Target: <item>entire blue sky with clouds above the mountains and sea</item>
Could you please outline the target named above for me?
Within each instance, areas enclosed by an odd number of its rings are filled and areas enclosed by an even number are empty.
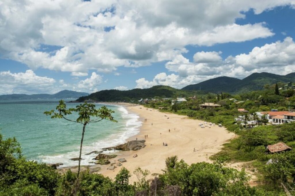
[[[294,0],[2,0],[0,95],[295,72]]]

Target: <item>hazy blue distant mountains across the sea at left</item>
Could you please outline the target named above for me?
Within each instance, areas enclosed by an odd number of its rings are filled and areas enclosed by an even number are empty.
[[[50,94],[12,94],[12,95],[0,95],[0,99],[76,99],[81,96],[87,96],[89,93],[81,93],[72,90],[62,90],[53,95]]]

